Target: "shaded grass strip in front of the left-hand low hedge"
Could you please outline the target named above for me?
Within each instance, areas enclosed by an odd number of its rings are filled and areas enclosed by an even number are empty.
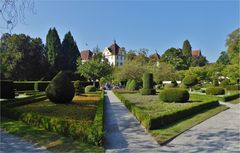
[[[53,152],[104,152],[103,147],[82,143],[69,137],[63,137],[53,132],[26,125],[21,121],[2,118],[0,127],[27,141],[45,146]]]

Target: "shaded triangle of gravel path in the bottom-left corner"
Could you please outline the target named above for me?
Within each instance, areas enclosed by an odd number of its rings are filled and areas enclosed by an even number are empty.
[[[0,129],[0,153],[51,153],[44,147],[27,142]]]

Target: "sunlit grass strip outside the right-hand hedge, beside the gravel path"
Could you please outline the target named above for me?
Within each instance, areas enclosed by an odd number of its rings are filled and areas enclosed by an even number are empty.
[[[177,123],[170,124],[169,126],[157,129],[157,130],[149,130],[152,136],[157,140],[159,144],[164,144],[169,140],[175,138],[182,132],[190,129],[191,127],[205,121],[206,119],[226,110],[226,106],[219,106],[197,115],[191,116],[189,118],[182,119]]]

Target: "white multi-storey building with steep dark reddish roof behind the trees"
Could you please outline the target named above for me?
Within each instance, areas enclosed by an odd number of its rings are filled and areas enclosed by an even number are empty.
[[[106,47],[103,51],[103,56],[108,59],[108,62],[113,66],[119,66],[124,64],[125,50],[120,48],[116,41],[109,47]]]

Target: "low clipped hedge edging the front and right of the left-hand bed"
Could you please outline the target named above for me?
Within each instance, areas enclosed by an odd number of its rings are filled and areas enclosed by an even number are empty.
[[[104,136],[103,110],[104,91],[101,93],[96,115],[91,125],[79,122],[78,120],[67,120],[60,117],[50,117],[33,112],[20,113],[9,107],[4,108],[2,110],[2,114],[12,119],[21,120],[29,125],[44,128],[48,131],[57,132],[64,136],[70,136],[81,142],[87,142],[94,145],[102,145]]]

